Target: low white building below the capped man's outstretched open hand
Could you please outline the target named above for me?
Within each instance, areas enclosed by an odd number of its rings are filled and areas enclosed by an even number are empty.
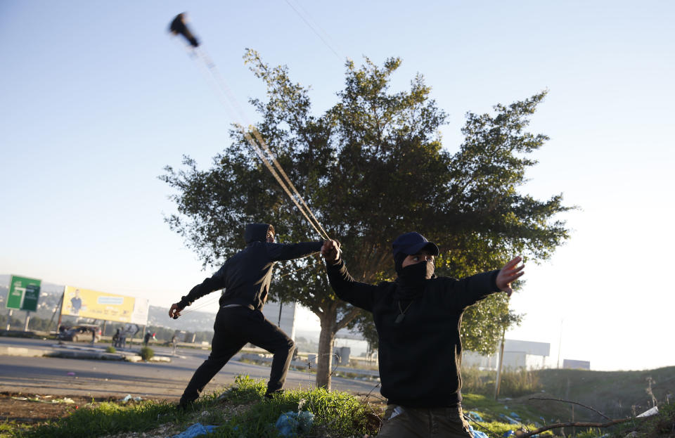
[[[553,365],[551,359],[551,344],[548,342],[530,342],[507,339],[504,341],[503,368],[548,368]],[[495,354],[483,356],[475,352],[464,352],[462,366],[477,366],[484,370],[496,370],[499,365],[499,347]]]

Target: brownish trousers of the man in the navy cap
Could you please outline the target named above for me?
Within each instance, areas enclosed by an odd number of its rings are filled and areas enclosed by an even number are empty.
[[[387,405],[378,438],[473,438],[462,406],[404,408]]]

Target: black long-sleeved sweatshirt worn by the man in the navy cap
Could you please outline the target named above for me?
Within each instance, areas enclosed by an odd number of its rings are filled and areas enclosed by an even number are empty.
[[[424,292],[402,302],[401,314],[394,292],[398,283],[359,283],[344,262],[327,266],[328,279],[341,299],[373,312],[380,339],[382,395],[390,404],[411,408],[451,406],[461,401],[462,342],[459,327],[464,309],[497,292],[499,271],[455,280],[437,277],[426,281]]]

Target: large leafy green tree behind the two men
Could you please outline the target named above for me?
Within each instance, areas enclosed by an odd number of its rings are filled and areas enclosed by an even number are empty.
[[[348,61],[345,88],[321,115],[311,112],[308,89],[291,81],[287,67],[270,67],[255,51],[245,62],[267,86],[264,100],[251,101],[262,116],[255,129],[330,237],[340,240],[359,281],[395,276],[390,245],[407,231],[437,243],[438,273],[455,277],[499,268],[516,254],[546,259],[567,238],[564,222],[553,219],[567,210],[561,195],[541,201],[518,191],[535,164],[529,153],[547,139],[525,130],[544,92],[496,105],[494,117],[469,113],[465,140],[453,153],[442,147],[438,129],[446,114],[423,77],[407,91],[390,91],[398,58],[381,67],[367,58],[359,67]],[[178,213],[167,221],[205,266],[243,247],[249,221],[274,224],[282,242],[319,238],[252,153],[248,134],[232,129],[233,142],[210,169],[184,157],[182,169],[166,167],[160,176],[176,190]],[[330,387],[335,333],[347,326],[372,333],[368,316],[335,297],[318,256],[282,271],[288,275],[276,276],[271,296],[319,316],[316,383]],[[465,344],[491,351],[517,321],[506,297],[493,295],[465,313]]]

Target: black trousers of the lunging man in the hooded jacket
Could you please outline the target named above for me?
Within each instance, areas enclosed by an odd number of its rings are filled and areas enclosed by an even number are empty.
[[[283,387],[295,342],[268,321],[261,311],[243,306],[221,308],[213,330],[211,354],[195,371],[183,392],[181,404],[196,400],[214,375],[248,342],[274,354],[267,392]]]

